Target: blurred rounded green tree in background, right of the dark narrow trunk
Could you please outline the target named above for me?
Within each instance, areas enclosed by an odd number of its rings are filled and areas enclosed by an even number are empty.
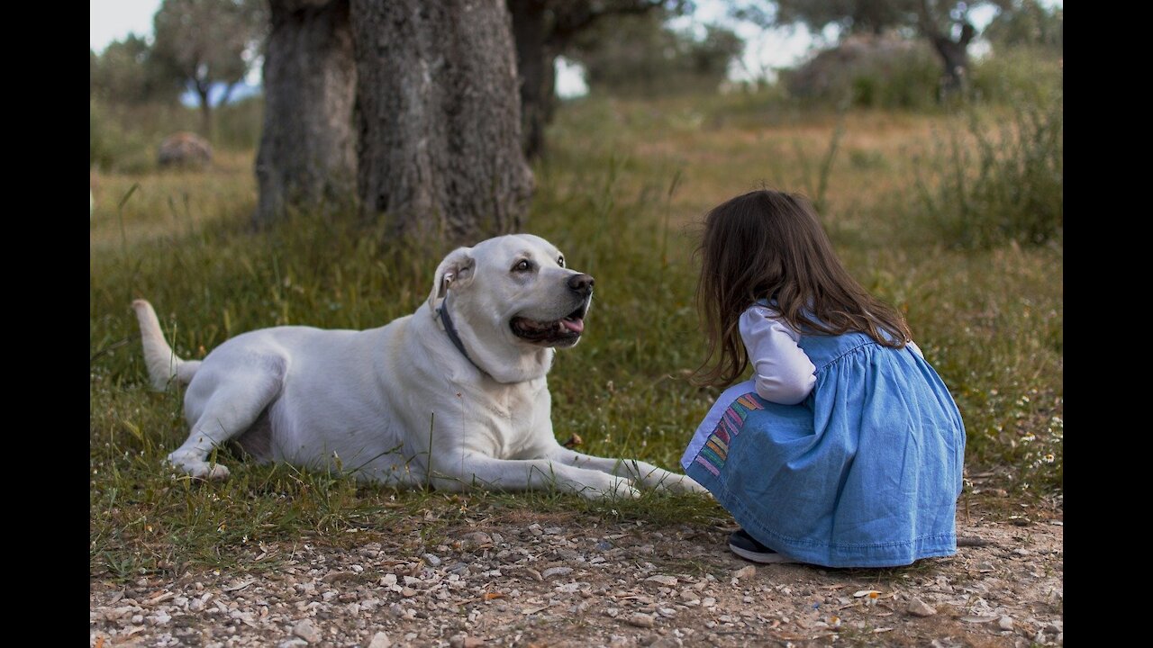
[[[704,27],[701,38],[673,31],[668,18],[664,10],[626,16],[578,37],[570,55],[585,66],[589,91],[645,96],[716,91],[744,43],[715,25]]]

